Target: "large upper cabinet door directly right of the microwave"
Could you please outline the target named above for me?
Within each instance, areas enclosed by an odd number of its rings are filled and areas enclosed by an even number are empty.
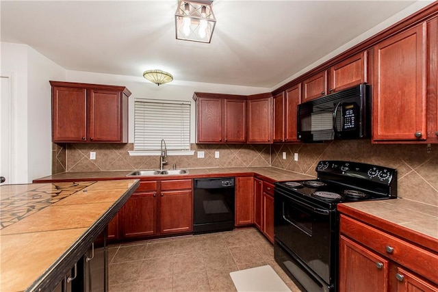
[[[426,139],[426,23],[374,47],[372,139]]]

